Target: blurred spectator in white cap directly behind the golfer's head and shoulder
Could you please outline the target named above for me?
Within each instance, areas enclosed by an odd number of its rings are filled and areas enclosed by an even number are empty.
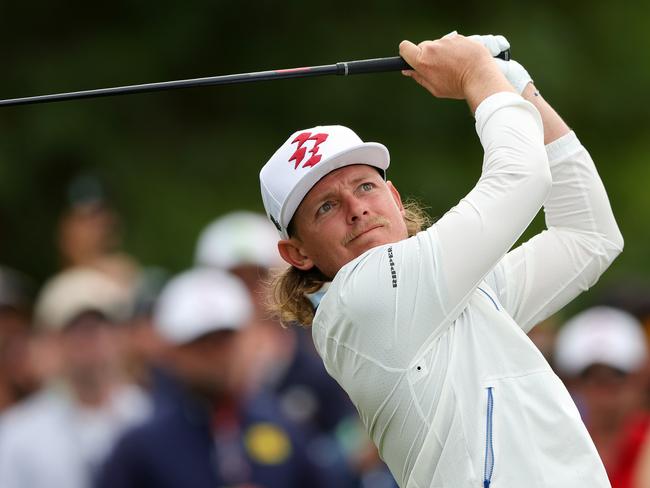
[[[354,406],[325,371],[311,333],[282,328],[266,308],[270,272],[286,266],[278,238],[264,215],[235,211],[210,223],[197,243],[196,265],[237,275],[253,299],[254,315],[240,333],[236,358],[247,392],[268,389],[277,395],[283,414],[310,433],[310,456],[338,472],[337,486],[396,486]]]

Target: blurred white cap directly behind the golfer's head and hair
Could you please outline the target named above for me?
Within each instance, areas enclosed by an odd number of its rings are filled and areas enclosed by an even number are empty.
[[[231,212],[209,224],[199,236],[195,264],[219,269],[242,265],[261,268],[282,266],[278,233],[263,215]]]

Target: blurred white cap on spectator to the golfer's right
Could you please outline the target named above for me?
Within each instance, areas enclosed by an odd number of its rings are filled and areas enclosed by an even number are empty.
[[[593,364],[630,373],[639,369],[646,357],[646,337],[640,322],[612,307],[579,313],[562,327],[555,345],[555,364],[569,376]]]

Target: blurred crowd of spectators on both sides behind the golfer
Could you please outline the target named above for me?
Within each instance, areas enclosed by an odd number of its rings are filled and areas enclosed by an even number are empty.
[[[0,267],[0,487],[396,486],[309,330],[265,310],[283,263],[263,215],[215,216],[172,276],[121,250],[118,215],[87,190],[61,216],[57,274]],[[531,339],[612,486],[647,488],[650,297],[626,297]]]

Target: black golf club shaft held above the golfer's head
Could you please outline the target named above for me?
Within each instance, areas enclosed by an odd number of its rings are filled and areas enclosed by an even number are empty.
[[[499,53],[496,57],[510,59],[510,50]],[[62,102],[81,98],[98,98],[115,95],[128,95],[131,93],[145,93],[176,88],[191,88],[196,86],[232,85],[236,83],[251,83],[253,81],[281,80],[287,78],[305,78],[308,76],[325,75],[357,75],[365,73],[381,73],[387,71],[401,71],[411,69],[400,56],[377,59],[363,59],[359,61],[344,61],[336,64],[310,66],[305,68],[281,69],[272,71],[257,71],[253,73],[240,73],[235,75],[209,76],[206,78],[193,78],[188,80],[162,81],[159,83],[145,83],[142,85],[118,86],[113,88],[99,88],[68,93],[55,93],[52,95],[39,95],[25,98],[11,98],[0,100],[0,106],[29,105],[34,103]]]

